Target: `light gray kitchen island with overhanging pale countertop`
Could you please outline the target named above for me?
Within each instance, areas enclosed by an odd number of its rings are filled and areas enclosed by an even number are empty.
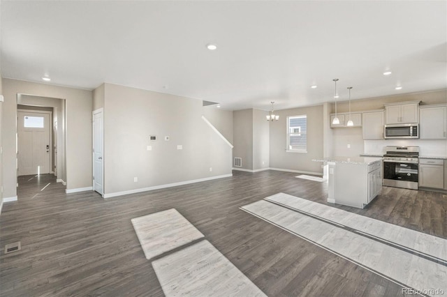
[[[382,188],[382,158],[333,157],[328,165],[328,202],[364,208]]]

